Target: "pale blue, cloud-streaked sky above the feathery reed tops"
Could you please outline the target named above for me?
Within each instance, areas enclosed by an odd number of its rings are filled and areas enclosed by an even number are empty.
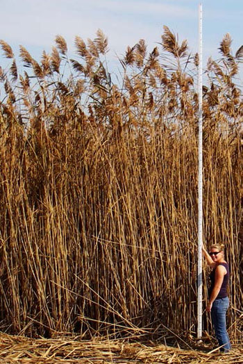
[[[0,0],[0,39],[18,53],[22,44],[40,60],[51,52],[55,36],[65,37],[74,51],[74,37],[93,39],[98,28],[108,36],[110,62],[143,38],[149,50],[160,42],[162,26],[187,39],[193,53],[198,47],[198,7],[203,4],[203,59],[218,57],[222,37],[230,33],[233,51],[243,44],[242,0]],[[3,53],[0,53],[3,65]]]

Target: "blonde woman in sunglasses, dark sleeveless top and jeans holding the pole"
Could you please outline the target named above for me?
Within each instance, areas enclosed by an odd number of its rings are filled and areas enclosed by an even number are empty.
[[[226,330],[226,312],[229,304],[227,294],[229,268],[228,263],[224,260],[224,245],[212,245],[209,253],[203,247],[203,255],[206,257],[210,268],[212,268],[206,311],[211,312],[212,324],[219,342],[220,351],[228,352],[231,349],[231,343]]]

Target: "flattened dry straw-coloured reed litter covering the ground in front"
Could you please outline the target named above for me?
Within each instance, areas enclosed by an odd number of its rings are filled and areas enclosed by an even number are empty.
[[[199,349],[179,349],[154,343],[127,343],[124,340],[80,340],[80,338],[31,339],[0,334],[0,363],[217,363],[243,364],[243,349],[233,348],[230,354]]]

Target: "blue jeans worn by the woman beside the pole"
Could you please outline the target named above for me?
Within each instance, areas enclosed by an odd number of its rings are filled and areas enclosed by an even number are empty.
[[[212,304],[211,318],[215,335],[219,342],[220,351],[228,352],[231,349],[230,339],[226,330],[226,312],[228,310],[228,297],[219,298]],[[224,346],[222,346],[224,345]]]

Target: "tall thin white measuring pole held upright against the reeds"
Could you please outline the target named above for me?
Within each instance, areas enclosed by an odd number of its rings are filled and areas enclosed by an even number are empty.
[[[197,338],[202,336],[202,300],[203,300],[203,10],[199,4],[199,223],[198,223],[198,272],[197,272]]]

